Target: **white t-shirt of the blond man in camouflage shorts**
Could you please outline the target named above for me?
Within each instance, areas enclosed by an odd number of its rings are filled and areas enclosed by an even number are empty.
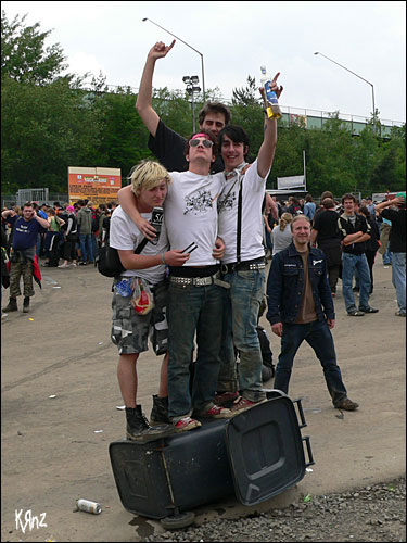
[[[141,213],[141,216],[147,220],[151,219],[151,213]],[[117,206],[111,218],[110,245],[114,249],[135,251],[143,239],[144,236],[140,232],[131,218],[120,205]],[[158,243],[153,245],[148,242],[140,254],[144,256],[154,256],[168,251],[168,249],[167,232],[165,224],[163,224]],[[126,269],[126,272],[123,272],[122,277],[141,277],[150,285],[156,285],[164,279],[164,274],[165,266],[164,264],[160,264],[145,269]]]

